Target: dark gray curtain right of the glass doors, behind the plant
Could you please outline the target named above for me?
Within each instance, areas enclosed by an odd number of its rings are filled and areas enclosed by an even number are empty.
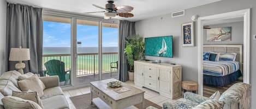
[[[126,37],[135,35],[135,22],[129,21],[120,21],[119,24],[119,80],[127,81],[128,80],[128,64],[126,59],[126,54],[124,53],[124,48],[126,46]]]

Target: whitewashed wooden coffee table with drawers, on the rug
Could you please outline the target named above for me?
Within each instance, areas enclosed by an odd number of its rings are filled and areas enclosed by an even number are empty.
[[[112,108],[120,109],[129,106],[141,104],[141,108],[144,109],[144,93],[141,89],[135,88],[122,82],[122,87],[130,89],[127,92],[117,93],[114,89],[108,87],[106,84],[110,81],[117,81],[116,79],[107,79],[101,81],[90,82],[91,86],[91,102],[98,108]],[[97,95],[98,98],[93,98],[93,95]]]

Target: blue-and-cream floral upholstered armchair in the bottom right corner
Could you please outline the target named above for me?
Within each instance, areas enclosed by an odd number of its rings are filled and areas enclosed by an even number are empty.
[[[251,85],[236,83],[225,91],[218,100],[213,100],[191,92],[184,93],[184,98],[165,102],[163,109],[249,109],[251,108]]]

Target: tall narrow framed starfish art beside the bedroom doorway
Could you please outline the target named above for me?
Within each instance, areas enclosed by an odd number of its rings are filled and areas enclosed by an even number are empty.
[[[194,46],[194,24],[182,24],[182,46]]]

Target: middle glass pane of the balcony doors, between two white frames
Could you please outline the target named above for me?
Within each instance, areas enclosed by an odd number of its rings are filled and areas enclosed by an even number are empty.
[[[99,80],[99,22],[76,20],[76,80],[84,84]]]

